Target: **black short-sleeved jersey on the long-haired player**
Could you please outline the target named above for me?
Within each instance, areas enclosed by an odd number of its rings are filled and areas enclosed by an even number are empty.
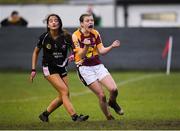
[[[54,40],[48,32],[43,33],[37,43],[39,49],[43,48],[42,65],[66,66],[68,63],[68,50],[71,46],[72,40],[70,34],[63,32]]]

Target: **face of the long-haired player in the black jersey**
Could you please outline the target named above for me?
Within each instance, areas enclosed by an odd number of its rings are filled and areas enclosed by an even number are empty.
[[[59,28],[59,20],[56,16],[50,16],[48,20],[48,27],[51,30],[57,30]]]

